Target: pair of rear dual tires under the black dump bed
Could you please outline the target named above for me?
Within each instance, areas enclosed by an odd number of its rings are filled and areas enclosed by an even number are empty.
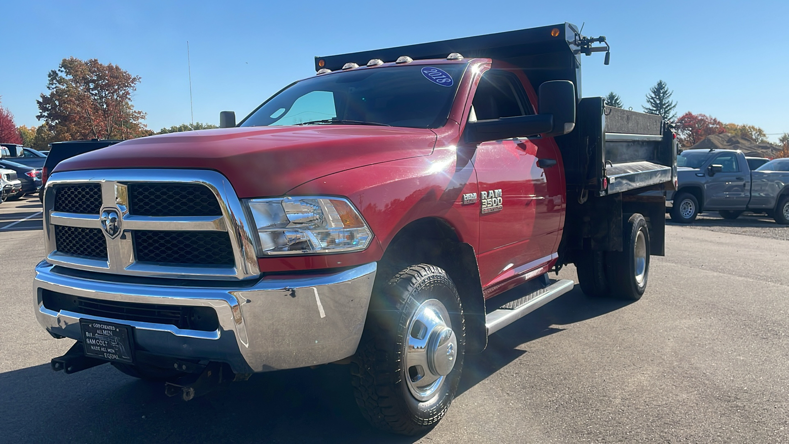
[[[585,250],[576,262],[581,291],[586,295],[638,300],[649,280],[649,229],[641,214],[623,224],[622,251]]]

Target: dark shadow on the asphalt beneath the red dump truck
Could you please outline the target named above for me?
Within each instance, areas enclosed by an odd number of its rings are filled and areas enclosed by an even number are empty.
[[[524,344],[623,307],[579,288],[490,338],[468,356],[458,397],[525,353]],[[538,365],[535,363],[535,365]],[[255,374],[193,401],[103,365],[77,374],[48,365],[0,374],[7,442],[416,442],[383,435],[358,412],[347,366]]]

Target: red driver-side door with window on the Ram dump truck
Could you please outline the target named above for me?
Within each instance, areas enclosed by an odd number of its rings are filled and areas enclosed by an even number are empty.
[[[483,74],[472,111],[469,118],[477,120],[534,113],[518,76],[506,70]],[[544,265],[555,252],[564,205],[559,152],[553,141],[535,141],[522,137],[477,146],[483,286]]]

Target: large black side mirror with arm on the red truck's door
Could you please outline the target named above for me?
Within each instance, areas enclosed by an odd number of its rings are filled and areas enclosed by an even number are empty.
[[[547,81],[540,85],[540,114],[503,117],[467,122],[467,142],[500,141],[512,137],[540,134],[561,136],[575,128],[575,85],[566,80]]]

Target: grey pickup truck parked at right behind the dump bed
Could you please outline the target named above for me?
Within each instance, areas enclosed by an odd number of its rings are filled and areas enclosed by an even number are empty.
[[[778,224],[789,224],[789,171],[776,171],[784,165],[772,160],[750,171],[741,151],[686,149],[677,156],[679,186],[667,193],[667,211],[682,224],[710,210],[726,219],[745,211],[767,213]]]

